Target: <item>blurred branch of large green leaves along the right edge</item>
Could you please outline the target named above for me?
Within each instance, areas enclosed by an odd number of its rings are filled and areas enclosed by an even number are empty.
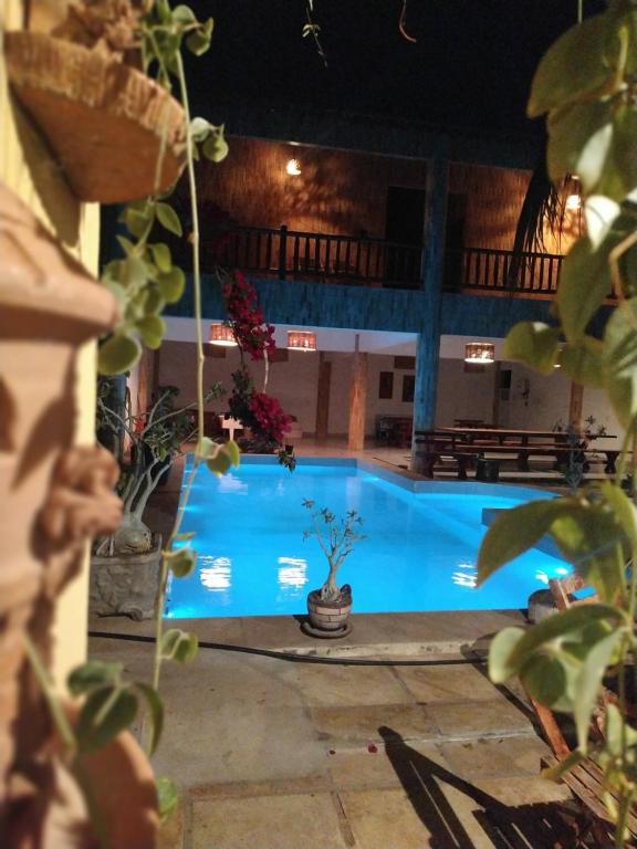
[[[519,675],[537,702],[573,715],[577,748],[550,776],[586,756],[596,761],[622,847],[637,797],[637,731],[626,719],[627,664],[637,649],[637,514],[622,489],[637,431],[636,0],[610,0],[603,14],[552,45],[535,73],[528,111],[530,117],[547,115],[552,180],[577,175],[581,181],[587,233],[564,260],[555,323],[515,325],[504,355],[544,375],[560,363],[575,382],[603,389],[626,436],[613,481],[507,511],[487,534],[480,583],[547,534],[599,598],[529,630],[500,632],[490,674],[494,682]],[[588,326],[612,293],[616,306],[598,339]],[[606,677],[616,678],[617,704],[601,699]],[[591,742],[599,702],[605,734]]]

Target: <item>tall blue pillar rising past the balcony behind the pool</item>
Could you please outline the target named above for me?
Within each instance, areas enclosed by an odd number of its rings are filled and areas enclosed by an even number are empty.
[[[414,431],[428,430],[436,424],[448,187],[449,164],[443,157],[435,156],[429,160],[427,168],[427,197],[422,233],[425,245],[422,258],[424,326],[416,343]],[[411,441],[411,470],[421,471],[421,463],[416,454],[415,438]]]

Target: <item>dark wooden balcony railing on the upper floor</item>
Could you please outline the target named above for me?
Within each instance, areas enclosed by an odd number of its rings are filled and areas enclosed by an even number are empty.
[[[320,280],[355,285],[420,289],[422,245],[331,233],[264,227],[236,227],[201,242],[202,266],[241,269],[279,280]],[[552,296],[557,291],[558,254],[513,253],[464,248],[445,254],[447,291],[521,292]]]

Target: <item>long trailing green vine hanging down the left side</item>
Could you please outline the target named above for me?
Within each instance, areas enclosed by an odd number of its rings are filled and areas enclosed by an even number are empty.
[[[174,9],[167,0],[155,0],[140,19],[138,44],[142,50],[145,71],[155,74],[157,82],[171,90],[177,84],[178,95],[186,113],[186,159],[190,190],[192,218],[192,249],[195,321],[197,327],[197,418],[192,429],[197,434],[197,447],[190,473],[186,481],[177,518],[165,551],[161,553],[159,590],[155,614],[155,646],[152,684],[126,682],[121,663],[88,661],[73,670],[67,680],[69,692],[81,698],[82,705],[75,723],[70,723],[61,705],[55,688],[32,642],[27,640],[27,651],[32,668],[50,706],[51,717],[63,744],[63,756],[83,786],[82,758],[107,745],[117,734],[130,727],[140,712],[144,713],[144,743],[149,755],[155,751],[164,725],[164,705],[158,693],[160,671],[164,661],[180,663],[194,660],[198,651],[197,637],[179,628],[164,630],[163,611],[169,575],[184,578],[196,565],[196,552],[191,548],[192,534],[182,534],[184,507],[190,495],[197,470],[206,463],[215,474],[224,474],[238,465],[240,451],[233,441],[218,444],[203,436],[203,348],[201,338],[201,280],[199,272],[199,224],[195,160],[198,150],[212,161],[221,161],[228,153],[223,139],[223,127],[216,127],[203,118],[191,118],[181,49],[185,45],[196,55],[205,53],[210,44],[212,21],[199,23],[195,13],[186,6]],[[157,185],[161,172],[166,130],[157,161]],[[181,235],[181,223],[166,197],[157,192],[154,197],[129,203],[122,216],[130,238],[119,238],[124,258],[109,263],[103,275],[104,284],[119,301],[123,319],[112,336],[103,340],[98,353],[98,369],[103,375],[123,374],[138,360],[142,344],[150,348],[160,345],[165,333],[160,312],[166,303],[173,303],[182,294],[185,275],[173,264],[168,247],[150,242],[150,235],[158,223],[164,229]],[[164,398],[164,401],[167,399]],[[161,411],[161,400],[150,411],[152,422],[146,422],[145,437],[149,438],[157,458],[171,450],[171,428],[168,420],[174,412]],[[114,421],[114,410],[104,409],[102,415]],[[180,413],[177,411],[175,415]],[[115,413],[119,415],[119,413]],[[118,424],[123,424],[119,421]],[[161,427],[164,426],[164,427]],[[150,432],[153,430],[153,433]],[[133,433],[129,436],[133,437]],[[173,433],[173,436],[175,436]],[[185,434],[187,436],[187,434]],[[134,437],[133,437],[134,438]],[[127,484],[125,484],[127,485]],[[135,489],[135,483],[132,484]],[[91,793],[86,799],[91,807]],[[176,785],[168,778],[157,782],[157,796],[161,818],[175,810],[178,803]],[[101,845],[100,816],[94,813],[92,822]]]

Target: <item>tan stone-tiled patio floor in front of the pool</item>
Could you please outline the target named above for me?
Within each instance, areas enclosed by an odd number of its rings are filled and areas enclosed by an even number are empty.
[[[94,638],[91,653],[148,678],[148,644]],[[202,649],[165,667],[161,691],[155,768],[184,792],[161,849],[542,849],[546,835],[521,835],[568,797],[539,777],[545,745],[480,662],[318,665]]]

